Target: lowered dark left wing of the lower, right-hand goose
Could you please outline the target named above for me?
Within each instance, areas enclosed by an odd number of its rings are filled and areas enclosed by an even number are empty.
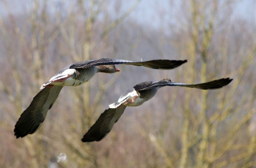
[[[126,106],[121,105],[115,109],[106,109],[104,113],[100,115],[98,120],[92,125],[92,127],[86,132],[81,141],[93,142],[101,141],[113,128],[113,125],[118,121],[120,116],[124,113]]]

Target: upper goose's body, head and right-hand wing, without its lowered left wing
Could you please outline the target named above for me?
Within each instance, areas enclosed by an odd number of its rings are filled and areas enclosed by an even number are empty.
[[[115,64],[127,64],[132,66],[145,66],[152,69],[173,69],[187,62],[187,60],[148,60],[144,62],[134,62],[131,60],[102,58],[97,60],[86,60],[76,62],[61,69],[52,78],[41,86],[78,86],[90,80],[96,73],[116,73]]]

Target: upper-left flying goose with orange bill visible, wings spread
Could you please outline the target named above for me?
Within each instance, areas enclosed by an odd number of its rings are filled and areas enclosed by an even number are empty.
[[[115,64],[144,66],[152,69],[173,69],[187,60],[148,60],[134,62],[131,60],[102,58],[76,62],[61,69],[41,86],[41,91],[33,98],[29,107],[20,115],[15,124],[16,138],[33,134],[42,125],[47,111],[52,108],[63,86],[78,86],[90,80],[96,73],[116,73],[120,69]]]

